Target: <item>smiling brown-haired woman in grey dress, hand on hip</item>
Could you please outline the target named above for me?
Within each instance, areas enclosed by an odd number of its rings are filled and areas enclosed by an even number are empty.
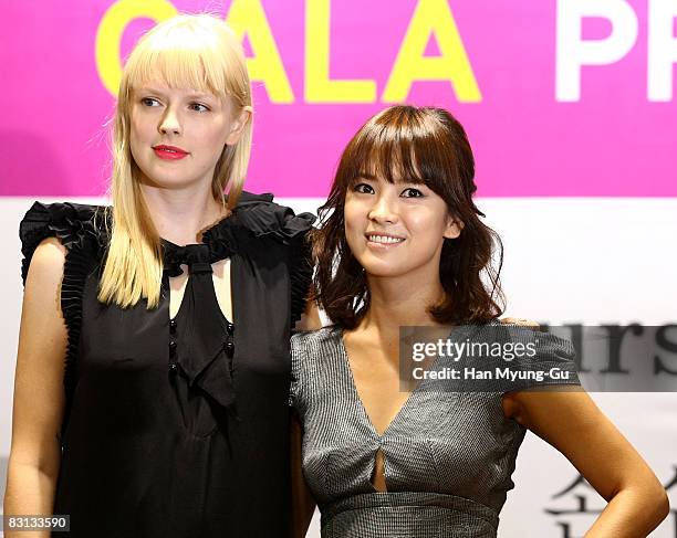
[[[342,156],[314,232],[316,298],[334,325],[292,337],[291,403],[322,536],[494,537],[529,429],[608,502],[586,537],[644,537],[666,493],[587,394],[566,390],[579,384],[571,344],[521,329],[537,342],[522,366],[562,379],[399,389],[402,327],[521,338],[497,320],[497,236],[478,217],[473,176],[461,125],[439,108],[388,108]],[[558,390],[527,390],[544,386]]]

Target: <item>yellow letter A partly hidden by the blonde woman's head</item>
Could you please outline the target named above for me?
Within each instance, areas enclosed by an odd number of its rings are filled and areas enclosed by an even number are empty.
[[[233,0],[226,19],[230,28],[242,40],[249,35],[254,53],[247,59],[247,68],[252,81],[262,81],[272,103],[293,103],[294,94],[287,78],[278,45],[273,39],[265,12],[259,0]]]

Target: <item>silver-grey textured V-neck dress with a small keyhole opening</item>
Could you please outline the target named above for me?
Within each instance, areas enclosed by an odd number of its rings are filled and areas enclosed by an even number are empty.
[[[303,424],[303,474],[323,538],[491,538],[513,487],[525,430],[504,418],[501,391],[431,391],[425,381],[379,435],[353,380],[342,331],[294,335],[290,403]],[[573,347],[540,337],[539,367],[571,372]],[[372,482],[382,451],[387,492]]]

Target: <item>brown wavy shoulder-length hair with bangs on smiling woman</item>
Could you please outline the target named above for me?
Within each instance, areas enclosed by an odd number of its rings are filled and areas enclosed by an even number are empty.
[[[445,239],[439,278],[440,304],[428,312],[440,324],[481,324],[504,308],[499,274],[503,249],[498,234],[475,205],[475,158],[464,127],[442,108],[398,105],[372,117],[341,156],[329,199],[319,209],[320,229],[312,234],[316,262],[313,298],[330,319],[355,328],[369,308],[365,273],[345,239],[345,197],[369,171],[389,182],[406,178],[424,183],[445,200],[462,223],[456,239]],[[498,268],[494,267],[498,264]]]

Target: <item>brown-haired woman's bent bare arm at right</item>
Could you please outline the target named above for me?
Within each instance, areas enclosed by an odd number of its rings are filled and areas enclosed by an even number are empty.
[[[503,411],[564,454],[608,503],[586,538],[644,538],[667,517],[660,482],[587,393],[511,392]]]

